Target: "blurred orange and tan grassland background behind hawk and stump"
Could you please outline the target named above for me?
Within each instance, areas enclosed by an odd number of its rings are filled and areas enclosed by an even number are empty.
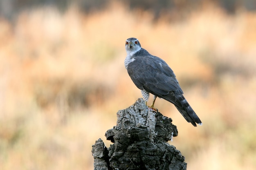
[[[92,144],[109,147],[117,111],[141,97],[130,37],[171,66],[203,122],[155,103],[187,169],[256,169],[255,0],[0,0],[1,170],[93,169]]]

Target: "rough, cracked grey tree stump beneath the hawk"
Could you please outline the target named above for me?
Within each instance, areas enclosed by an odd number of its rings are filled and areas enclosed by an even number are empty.
[[[117,112],[117,126],[92,146],[94,170],[186,170],[184,157],[167,141],[178,135],[172,119],[152,110],[139,98]]]

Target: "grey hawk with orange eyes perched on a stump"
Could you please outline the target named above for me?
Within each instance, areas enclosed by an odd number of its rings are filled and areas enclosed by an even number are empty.
[[[202,125],[201,120],[183,96],[183,91],[168,64],[141,48],[137,38],[128,38],[125,48],[127,56],[124,65],[132,82],[141,90],[146,102],[148,102],[149,93],[154,95],[150,108],[154,107],[155,99],[160,97],[174,104],[186,121],[193,126],[196,126],[195,123]]]

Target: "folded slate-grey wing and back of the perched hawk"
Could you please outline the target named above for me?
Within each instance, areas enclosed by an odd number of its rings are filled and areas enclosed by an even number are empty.
[[[170,92],[183,94],[172,69],[159,57],[152,55],[134,57],[127,71],[134,84],[141,90],[162,97]]]

